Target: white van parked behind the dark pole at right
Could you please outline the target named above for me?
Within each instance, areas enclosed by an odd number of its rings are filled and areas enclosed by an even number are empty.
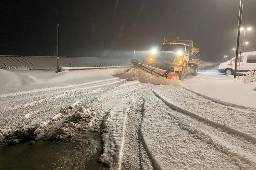
[[[239,68],[239,57],[237,60],[237,73]],[[235,60],[236,57],[231,58],[230,60],[220,63],[219,72],[225,73],[226,75],[234,74],[235,70]],[[240,73],[247,74],[248,71],[256,69],[256,51],[244,52],[241,53],[241,60],[240,60]]]

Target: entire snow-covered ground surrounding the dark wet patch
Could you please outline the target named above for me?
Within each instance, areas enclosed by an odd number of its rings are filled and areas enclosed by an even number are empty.
[[[184,81],[122,71],[0,70],[0,145],[98,131],[110,169],[256,169],[255,83],[209,66]]]

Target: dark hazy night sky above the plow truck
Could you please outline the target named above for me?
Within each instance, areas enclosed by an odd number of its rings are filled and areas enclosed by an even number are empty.
[[[0,55],[127,57],[166,39],[190,39],[206,59],[233,55],[240,0],[81,0],[0,2]],[[256,1],[244,0],[242,26],[256,50]],[[241,33],[240,44],[243,41]]]

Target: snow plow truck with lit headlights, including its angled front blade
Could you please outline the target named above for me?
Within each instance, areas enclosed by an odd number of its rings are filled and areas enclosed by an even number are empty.
[[[131,63],[157,77],[176,77],[183,80],[188,72],[197,75],[199,59],[194,57],[198,52],[199,48],[195,48],[191,40],[167,40],[151,51],[146,58],[146,64],[135,59]]]

